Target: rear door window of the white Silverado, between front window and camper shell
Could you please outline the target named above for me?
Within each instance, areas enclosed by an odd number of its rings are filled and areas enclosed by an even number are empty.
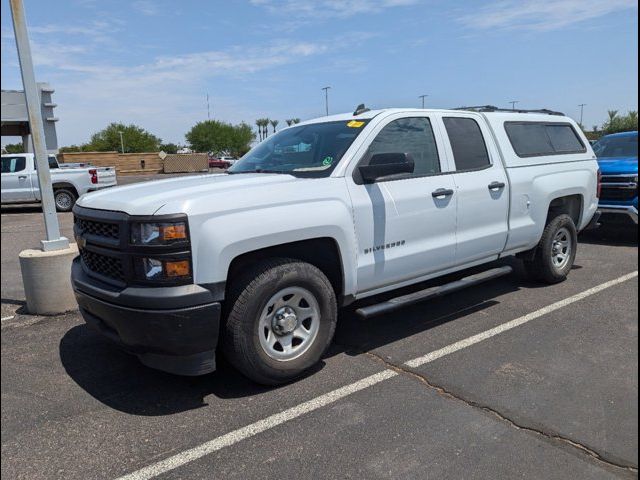
[[[442,120],[447,129],[457,171],[478,170],[491,165],[478,122],[464,117],[445,117]]]

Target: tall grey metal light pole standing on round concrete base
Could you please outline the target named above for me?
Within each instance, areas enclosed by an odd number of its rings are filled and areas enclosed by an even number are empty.
[[[47,236],[46,240],[41,240],[41,246],[44,251],[67,249],[69,248],[69,240],[60,235],[60,225],[58,223],[58,215],[56,214],[56,206],[53,198],[51,172],[49,172],[42,112],[40,110],[40,95],[33,71],[33,60],[31,58],[31,47],[29,46],[24,6],[22,5],[22,0],[10,0],[10,2],[13,31],[16,37],[20,73],[22,74],[22,85],[24,86],[24,96],[27,102],[27,114],[29,116],[29,128],[31,130],[31,140],[33,141],[33,151],[35,153],[37,166],[40,198],[42,199],[44,228]]]

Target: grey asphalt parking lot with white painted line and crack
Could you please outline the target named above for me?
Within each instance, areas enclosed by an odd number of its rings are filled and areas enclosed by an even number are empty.
[[[633,226],[583,235],[560,285],[516,268],[373,319],[343,310],[322,364],[279,388],[223,360],[150,370],[77,313],[22,313],[17,254],[42,232],[38,208],[2,209],[5,478],[637,478]]]

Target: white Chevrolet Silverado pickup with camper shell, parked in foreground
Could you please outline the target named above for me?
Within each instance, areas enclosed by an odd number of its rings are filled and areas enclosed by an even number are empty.
[[[462,271],[511,255],[564,280],[598,186],[556,112],[359,108],[281,130],[224,174],[83,196],[72,283],[86,322],[148,366],[203,374],[221,349],[277,384],[320,360],[354,301],[461,272],[357,310],[389,312],[504,275]]]

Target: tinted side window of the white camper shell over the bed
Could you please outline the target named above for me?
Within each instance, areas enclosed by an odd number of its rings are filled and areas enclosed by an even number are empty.
[[[504,128],[519,157],[586,152],[580,137],[569,123],[506,122]]]

